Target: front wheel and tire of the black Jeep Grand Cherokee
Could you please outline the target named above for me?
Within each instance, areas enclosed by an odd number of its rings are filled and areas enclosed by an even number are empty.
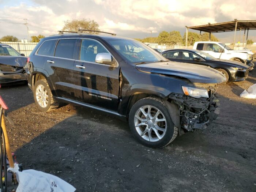
[[[178,135],[163,102],[153,97],[140,99],[129,113],[133,136],[148,147],[164,147]]]

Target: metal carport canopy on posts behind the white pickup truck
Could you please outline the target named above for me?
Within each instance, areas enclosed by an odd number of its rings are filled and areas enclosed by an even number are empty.
[[[248,31],[251,29],[256,29],[256,20],[237,20],[234,19],[234,21],[230,22],[223,22],[223,23],[208,23],[208,25],[200,25],[200,26],[193,26],[193,27],[187,27],[187,35],[186,35],[186,47],[188,44],[188,29],[194,29],[200,31],[200,34],[202,31],[210,33],[210,38],[211,39],[211,33],[220,33],[220,32],[229,32],[229,31],[235,31],[234,35],[234,44],[236,41],[236,31],[237,29],[239,30],[244,30],[244,37],[245,37],[245,31],[247,30],[247,37],[248,38]],[[244,45],[244,40],[243,40],[243,45]]]

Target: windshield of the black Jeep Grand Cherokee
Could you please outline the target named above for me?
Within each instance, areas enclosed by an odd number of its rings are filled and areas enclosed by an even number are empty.
[[[108,39],[107,41],[118,53],[133,64],[169,61],[160,53],[139,41],[129,39]]]

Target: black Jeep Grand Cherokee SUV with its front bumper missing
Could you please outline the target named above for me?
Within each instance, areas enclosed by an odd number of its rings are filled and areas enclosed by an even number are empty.
[[[40,110],[69,102],[124,117],[148,147],[206,128],[219,113],[216,86],[226,80],[215,69],[169,61],[133,39],[85,33],[41,39],[26,66]]]

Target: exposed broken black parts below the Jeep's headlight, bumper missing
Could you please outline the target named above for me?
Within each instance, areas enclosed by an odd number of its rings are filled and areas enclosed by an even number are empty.
[[[172,93],[169,98],[178,105],[180,127],[193,131],[205,129],[219,115],[219,100],[215,97],[216,90],[209,89],[209,98],[193,98],[184,94]]]

